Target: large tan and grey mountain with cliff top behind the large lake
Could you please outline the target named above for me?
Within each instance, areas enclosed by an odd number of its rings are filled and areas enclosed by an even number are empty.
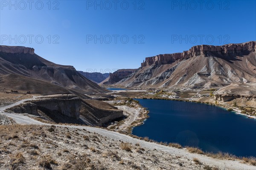
[[[134,73],[114,85],[209,88],[256,82],[256,42],[197,45],[183,53],[147,57]]]

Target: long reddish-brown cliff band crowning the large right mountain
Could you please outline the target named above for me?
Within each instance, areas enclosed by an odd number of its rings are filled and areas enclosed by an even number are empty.
[[[178,59],[190,58],[195,56],[209,57],[211,53],[221,54],[224,56],[238,55],[243,52],[256,51],[256,41],[244,42],[240,44],[226,44],[221,46],[214,45],[196,45],[183,53],[174,54],[160,54],[154,57],[146,57],[145,61],[141,63],[141,66],[153,65],[153,64],[170,64]]]

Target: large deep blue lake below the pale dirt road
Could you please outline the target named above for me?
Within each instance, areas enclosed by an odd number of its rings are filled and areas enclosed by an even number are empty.
[[[176,142],[204,151],[256,156],[256,119],[194,102],[136,99],[149,118],[132,134],[157,142]]]

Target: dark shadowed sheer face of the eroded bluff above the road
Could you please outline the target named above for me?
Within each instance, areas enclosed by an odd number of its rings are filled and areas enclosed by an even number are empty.
[[[81,100],[78,97],[72,99],[38,99],[29,102],[75,119],[80,118]]]

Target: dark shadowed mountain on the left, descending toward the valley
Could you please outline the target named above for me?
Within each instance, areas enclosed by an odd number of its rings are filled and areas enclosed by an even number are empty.
[[[56,94],[56,91],[71,94],[105,93],[108,90],[85,78],[73,66],[58,65],[35,54],[33,48],[0,45],[1,88]],[[10,78],[11,77],[11,78]],[[22,79],[15,84],[16,78]],[[14,80],[9,82],[9,80]],[[39,84],[35,87],[35,84]],[[9,83],[7,83],[9,82]],[[45,89],[50,86],[52,91]],[[41,90],[38,90],[41,88]],[[58,92],[59,93],[59,92]]]

